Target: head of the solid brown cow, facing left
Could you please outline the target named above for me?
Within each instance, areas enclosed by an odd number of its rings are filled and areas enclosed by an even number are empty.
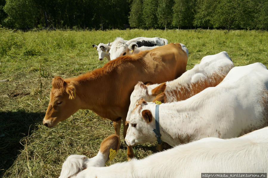
[[[75,87],[56,76],[52,79],[50,101],[43,124],[54,127],[58,122],[69,118],[80,109],[78,101]]]

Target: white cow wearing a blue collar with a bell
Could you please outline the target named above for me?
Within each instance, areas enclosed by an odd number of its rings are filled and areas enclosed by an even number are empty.
[[[128,146],[157,140],[156,104],[137,102],[125,137]],[[216,87],[159,105],[161,139],[170,146],[205,137],[232,138],[268,126],[268,70],[261,63],[234,67]]]

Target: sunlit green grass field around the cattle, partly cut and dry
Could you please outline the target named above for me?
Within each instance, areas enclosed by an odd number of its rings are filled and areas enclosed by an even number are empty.
[[[268,32],[235,30],[109,30],[10,31],[0,29],[0,175],[3,177],[58,177],[70,154],[97,154],[113,125],[89,110],[79,110],[53,128],[42,125],[53,76],[78,76],[102,67],[92,44],[116,37],[160,37],[183,43],[189,50],[187,70],[206,55],[227,51],[235,66],[261,62],[268,67]],[[121,127],[123,130],[123,127]],[[140,159],[155,152],[156,143],[134,148]],[[126,160],[121,137],[117,157]]]

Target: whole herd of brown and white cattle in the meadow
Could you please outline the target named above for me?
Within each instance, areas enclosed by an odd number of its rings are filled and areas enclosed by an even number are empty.
[[[185,45],[157,37],[92,46],[99,60],[110,62],[78,77],[54,77],[43,124],[54,127],[89,109],[113,121],[115,135],[103,140],[93,158],[69,156],[60,178],[268,171],[268,70],[263,64],[234,67],[223,51],[186,71]],[[129,161],[104,167],[110,149],[119,149],[121,120]],[[134,159],[133,146],[154,141],[159,148],[163,142],[173,148]]]

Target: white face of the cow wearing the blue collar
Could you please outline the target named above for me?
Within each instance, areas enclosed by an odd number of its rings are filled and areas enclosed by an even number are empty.
[[[128,146],[157,141],[153,132],[155,119],[150,110],[142,110],[147,103],[144,99],[140,99],[136,104],[137,107],[132,111],[129,122],[126,122],[128,130],[125,141]]]

